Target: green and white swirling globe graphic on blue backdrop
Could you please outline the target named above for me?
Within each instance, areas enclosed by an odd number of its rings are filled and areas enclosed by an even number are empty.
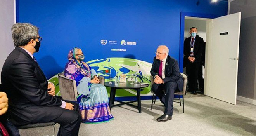
[[[152,64],[145,61],[129,58],[106,58],[88,61],[87,64],[90,65],[98,75],[105,77],[105,82],[115,81],[116,75],[119,76],[121,74],[125,74],[126,80],[129,81],[130,75],[137,72],[138,82],[150,84],[150,69]],[[106,70],[109,70],[109,72],[106,73]],[[59,96],[59,82],[57,75],[52,77],[49,82],[53,82],[55,84],[55,94]],[[141,96],[152,95],[150,92],[150,86],[142,88],[140,91]],[[109,87],[107,87],[107,92],[110,94]],[[136,91],[133,89],[116,90],[116,97],[126,96],[137,96]]]

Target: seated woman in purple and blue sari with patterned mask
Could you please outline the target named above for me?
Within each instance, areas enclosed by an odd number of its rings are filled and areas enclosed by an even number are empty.
[[[73,48],[68,54],[64,75],[76,80],[77,103],[84,123],[109,122],[114,117],[110,113],[106,87],[100,83],[97,73],[83,59],[81,49]]]

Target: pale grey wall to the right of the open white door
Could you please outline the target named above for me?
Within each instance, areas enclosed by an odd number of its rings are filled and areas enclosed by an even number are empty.
[[[256,0],[230,2],[230,14],[242,12],[237,100],[256,104]]]

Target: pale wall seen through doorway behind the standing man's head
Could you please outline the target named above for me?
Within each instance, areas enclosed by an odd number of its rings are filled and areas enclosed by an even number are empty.
[[[196,20],[196,19],[185,19],[185,27],[184,27],[184,40],[187,37],[190,37],[190,28],[197,28],[197,35],[201,38],[204,38],[204,42],[206,41],[206,20]]]

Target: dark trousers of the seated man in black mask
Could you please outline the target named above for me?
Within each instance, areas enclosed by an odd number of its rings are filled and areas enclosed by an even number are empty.
[[[33,123],[55,122],[60,124],[57,136],[78,136],[81,123],[79,106],[73,101],[62,101],[73,104],[74,110],[67,110],[57,106],[33,106],[30,109],[31,113],[35,116],[34,120],[28,122],[20,118],[18,122],[17,120],[12,120],[12,123],[16,126],[20,126]],[[37,109],[33,110],[33,108]]]

